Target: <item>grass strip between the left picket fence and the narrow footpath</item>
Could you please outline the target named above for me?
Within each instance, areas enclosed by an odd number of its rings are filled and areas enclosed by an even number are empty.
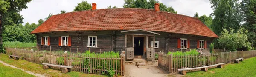
[[[0,54],[0,60],[10,65],[16,66],[18,68],[22,68],[26,71],[32,71],[34,73],[46,75],[47,77],[107,77],[105,75],[85,74],[85,73],[74,72],[74,71],[68,72],[67,74],[63,74],[61,73],[61,70],[54,70],[54,69],[44,70],[42,68],[42,65],[28,62],[26,60],[9,59],[9,56],[6,54]],[[6,74],[9,74],[9,73],[6,73]],[[0,72],[0,77],[16,77],[16,76],[4,76],[4,75],[2,76]],[[21,77],[29,77],[29,76],[21,76]]]

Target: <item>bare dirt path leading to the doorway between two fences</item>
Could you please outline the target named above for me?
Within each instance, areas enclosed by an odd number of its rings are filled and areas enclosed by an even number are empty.
[[[146,66],[150,68],[138,68],[134,64],[125,65],[125,77],[169,77],[169,73],[158,67],[157,63]]]

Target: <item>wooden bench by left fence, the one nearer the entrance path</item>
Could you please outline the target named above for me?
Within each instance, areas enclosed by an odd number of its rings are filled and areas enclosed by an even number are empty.
[[[61,70],[62,73],[67,73],[67,72],[71,71],[71,68],[72,68],[72,66],[55,65],[55,64],[49,64],[49,63],[42,63],[42,65],[43,65],[44,69],[51,68],[51,66],[60,67],[60,68],[62,68],[62,70]]]

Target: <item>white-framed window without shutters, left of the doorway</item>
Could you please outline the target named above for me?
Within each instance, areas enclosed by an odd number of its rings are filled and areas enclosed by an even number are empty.
[[[97,36],[88,36],[88,47],[97,47]]]

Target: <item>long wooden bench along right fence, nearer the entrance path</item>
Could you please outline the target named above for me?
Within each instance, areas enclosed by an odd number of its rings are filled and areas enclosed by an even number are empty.
[[[189,70],[201,69],[203,71],[208,71],[209,67],[217,66],[218,68],[222,68],[222,65],[224,65],[224,64],[226,64],[226,63],[218,63],[218,64],[215,64],[215,65],[202,66],[202,67],[196,67],[196,68],[182,68],[182,69],[177,69],[177,70],[180,72],[180,74],[186,75],[186,71],[189,71]]]

